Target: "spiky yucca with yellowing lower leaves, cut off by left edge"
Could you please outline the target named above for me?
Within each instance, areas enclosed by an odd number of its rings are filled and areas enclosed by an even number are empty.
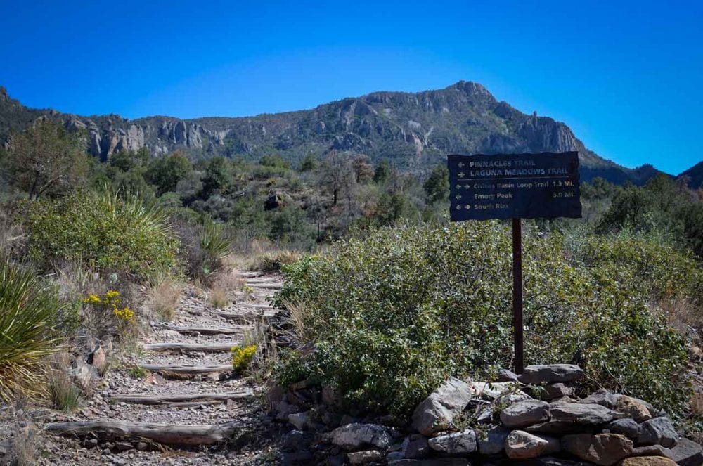
[[[0,400],[42,394],[42,360],[58,349],[52,328],[58,309],[51,288],[0,259]]]

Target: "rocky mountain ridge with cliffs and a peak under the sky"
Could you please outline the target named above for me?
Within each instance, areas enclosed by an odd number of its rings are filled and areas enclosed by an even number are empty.
[[[2,88],[0,88],[2,89]],[[0,138],[25,127],[39,115],[61,119],[88,133],[88,150],[103,160],[121,149],[147,147],[155,155],[181,150],[191,157],[257,159],[280,153],[296,163],[306,154],[330,150],[390,159],[396,167],[424,171],[449,153],[524,153],[579,151],[581,177],[643,184],[660,173],[651,165],[621,167],[599,157],[567,125],[549,117],[526,115],[498,101],[484,86],[460,81],[446,89],[374,92],[344,98],[311,110],[255,117],[178,119],[118,115],[82,117],[32,110],[0,93]]]

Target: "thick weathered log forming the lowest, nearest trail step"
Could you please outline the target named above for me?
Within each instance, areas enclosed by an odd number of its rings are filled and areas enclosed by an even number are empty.
[[[239,431],[236,422],[209,425],[162,425],[149,422],[79,421],[50,422],[46,432],[62,436],[96,436],[111,439],[149,439],[170,446],[212,445],[231,439]]]

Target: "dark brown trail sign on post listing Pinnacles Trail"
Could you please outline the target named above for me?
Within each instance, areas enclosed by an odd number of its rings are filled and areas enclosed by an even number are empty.
[[[520,219],[581,218],[579,154],[449,155],[451,221],[512,219],[512,325],[515,372],[522,343]]]

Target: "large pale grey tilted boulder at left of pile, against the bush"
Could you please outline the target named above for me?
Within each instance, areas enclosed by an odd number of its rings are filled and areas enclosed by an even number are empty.
[[[471,398],[469,385],[451,377],[415,408],[413,427],[423,435],[440,432],[449,426]]]

